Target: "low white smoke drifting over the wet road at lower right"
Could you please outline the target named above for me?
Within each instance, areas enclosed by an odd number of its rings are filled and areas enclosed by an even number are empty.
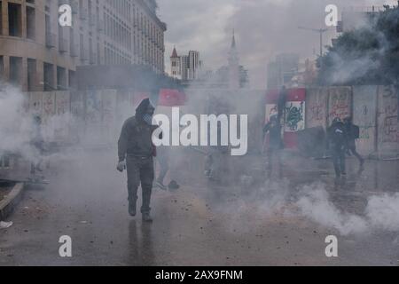
[[[322,182],[293,188],[287,179],[267,181],[259,190],[241,193],[237,200],[221,202],[214,210],[228,220],[224,225],[230,233],[250,232],[267,219],[276,222],[297,217],[344,236],[377,230],[399,232],[399,193],[371,195],[363,213],[354,214],[339,209]]]

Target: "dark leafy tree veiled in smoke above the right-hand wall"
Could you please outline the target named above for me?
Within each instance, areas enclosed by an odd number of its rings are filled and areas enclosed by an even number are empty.
[[[366,25],[343,33],[318,59],[319,84],[398,83],[399,8],[367,17]]]

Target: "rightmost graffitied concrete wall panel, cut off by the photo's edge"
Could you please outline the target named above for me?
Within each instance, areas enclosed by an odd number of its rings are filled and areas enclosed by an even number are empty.
[[[378,88],[378,148],[380,153],[399,153],[398,93],[394,86]]]

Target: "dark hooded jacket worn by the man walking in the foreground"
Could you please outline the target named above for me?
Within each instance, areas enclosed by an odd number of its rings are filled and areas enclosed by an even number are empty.
[[[125,160],[126,155],[151,157],[155,152],[153,146],[153,130],[158,126],[148,125],[143,116],[150,105],[149,99],[144,99],[136,109],[136,115],[123,123],[121,137],[118,141],[119,161]]]

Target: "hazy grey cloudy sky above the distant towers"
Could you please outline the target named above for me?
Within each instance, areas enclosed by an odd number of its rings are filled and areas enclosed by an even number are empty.
[[[173,46],[179,54],[200,51],[205,67],[217,69],[227,63],[235,29],[240,63],[249,70],[253,88],[265,88],[266,66],[281,52],[296,52],[315,59],[319,36],[298,26],[325,28],[325,6],[339,11],[350,6],[397,4],[396,0],[158,0],[160,19],[167,23],[165,62]],[[325,36],[331,44],[332,30]]]

